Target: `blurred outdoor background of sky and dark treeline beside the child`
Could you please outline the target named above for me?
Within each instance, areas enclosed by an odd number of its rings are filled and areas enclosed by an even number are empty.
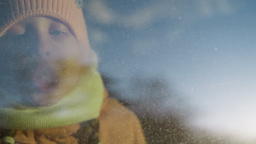
[[[148,143],[256,142],[256,1],[86,0],[110,97]]]

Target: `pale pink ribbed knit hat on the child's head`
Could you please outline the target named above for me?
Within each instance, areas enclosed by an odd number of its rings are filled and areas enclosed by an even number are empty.
[[[79,43],[89,43],[82,9],[76,0],[0,0],[0,37],[15,23],[30,16],[59,19]]]

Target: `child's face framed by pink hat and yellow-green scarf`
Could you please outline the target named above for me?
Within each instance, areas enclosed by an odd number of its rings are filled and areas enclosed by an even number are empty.
[[[0,49],[0,91],[7,93],[9,104],[53,105],[78,83],[82,53],[58,20],[18,22],[0,38]]]

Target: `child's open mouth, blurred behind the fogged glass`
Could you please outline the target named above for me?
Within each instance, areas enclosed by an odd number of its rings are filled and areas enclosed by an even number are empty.
[[[34,85],[41,92],[53,92],[59,86],[54,70],[49,66],[39,65],[33,75]]]

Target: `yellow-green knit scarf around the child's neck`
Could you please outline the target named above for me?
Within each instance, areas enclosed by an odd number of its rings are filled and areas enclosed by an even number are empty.
[[[97,118],[100,115],[103,93],[100,74],[96,68],[90,68],[80,85],[57,104],[45,107],[0,108],[0,128],[54,128]]]

